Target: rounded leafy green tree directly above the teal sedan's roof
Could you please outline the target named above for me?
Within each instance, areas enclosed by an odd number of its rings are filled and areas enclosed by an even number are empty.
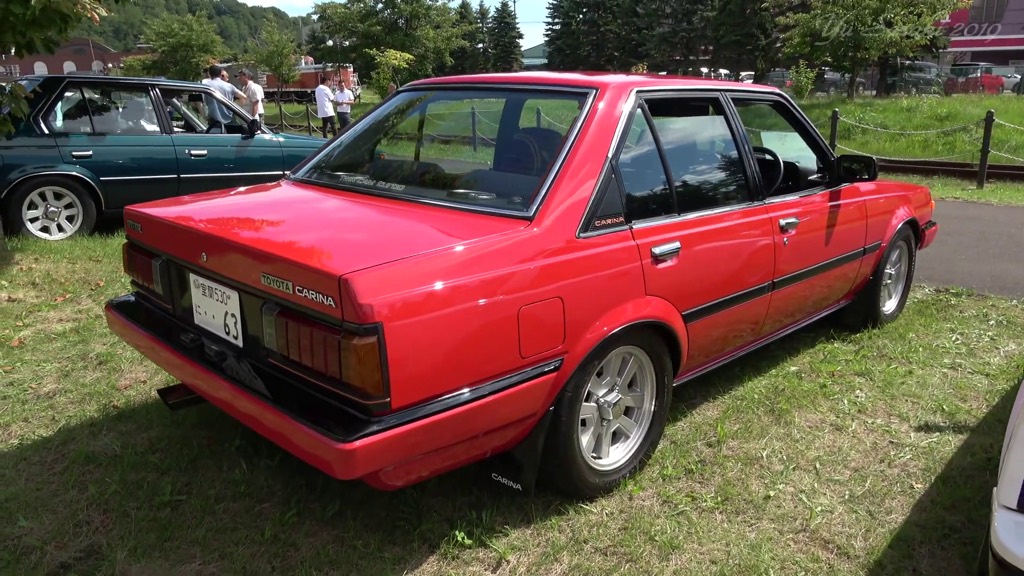
[[[227,53],[206,14],[164,14],[151,24],[143,39],[153,45],[150,73],[178,80],[199,80],[210,65]]]

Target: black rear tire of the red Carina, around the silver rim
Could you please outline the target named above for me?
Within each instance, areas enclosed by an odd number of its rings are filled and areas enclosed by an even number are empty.
[[[653,371],[653,407],[646,430],[632,449],[624,449],[622,463],[609,469],[599,469],[592,463],[593,454],[589,456],[584,454],[581,427],[586,417],[581,411],[588,396],[591,378],[613,353],[623,351],[626,351],[623,354],[639,351],[650,361],[650,366],[647,368]],[[640,360],[639,357],[637,359]],[[642,470],[665,433],[672,402],[672,377],[669,348],[649,330],[628,330],[598,345],[580,365],[555,402],[555,413],[548,430],[542,460],[542,481],[569,497],[591,499],[611,492],[627,478]],[[630,382],[626,383],[629,386]],[[611,409],[612,414],[615,413],[614,410]],[[627,413],[624,412],[623,415]],[[634,412],[634,415],[638,415],[638,412]],[[597,431],[595,428],[594,434]],[[626,442],[630,444],[631,441]]]

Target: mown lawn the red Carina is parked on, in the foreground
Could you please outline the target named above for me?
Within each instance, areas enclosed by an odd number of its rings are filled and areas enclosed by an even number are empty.
[[[297,461],[112,336],[121,239],[0,253],[3,574],[967,574],[1024,306],[919,288],[680,388],[650,466],[591,503],[474,468],[376,492]]]

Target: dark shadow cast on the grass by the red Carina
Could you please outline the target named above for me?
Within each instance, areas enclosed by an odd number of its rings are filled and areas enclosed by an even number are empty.
[[[682,386],[673,425],[835,337],[819,323]],[[327,478],[211,406],[115,405],[0,452],[0,573],[384,575],[440,569],[468,548],[498,570],[513,550],[496,537],[575,504],[517,496],[481,470],[378,492]]]

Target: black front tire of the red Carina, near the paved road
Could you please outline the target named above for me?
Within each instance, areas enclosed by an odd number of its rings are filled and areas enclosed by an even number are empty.
[[[893,258],[893,254],[899,250],[905,250],[906,279],[903,286],[898,290],[898,299],[889,300],[890,305],[883,303],[883,291],[887,289],[892,281],[886,274],[886,266]],[[882,258],[879,259],[871,278],[867,285],[854,297],[842,313],[843,323],[854,330],[867,328],[878,328],[885,326],[896,320],[910,295],[910,287],[913,284],[913,273],[918,264],[918,247],[914,243],[913,233],[907,224],[900,227],[893,235],[889,246],[886,248]]]

